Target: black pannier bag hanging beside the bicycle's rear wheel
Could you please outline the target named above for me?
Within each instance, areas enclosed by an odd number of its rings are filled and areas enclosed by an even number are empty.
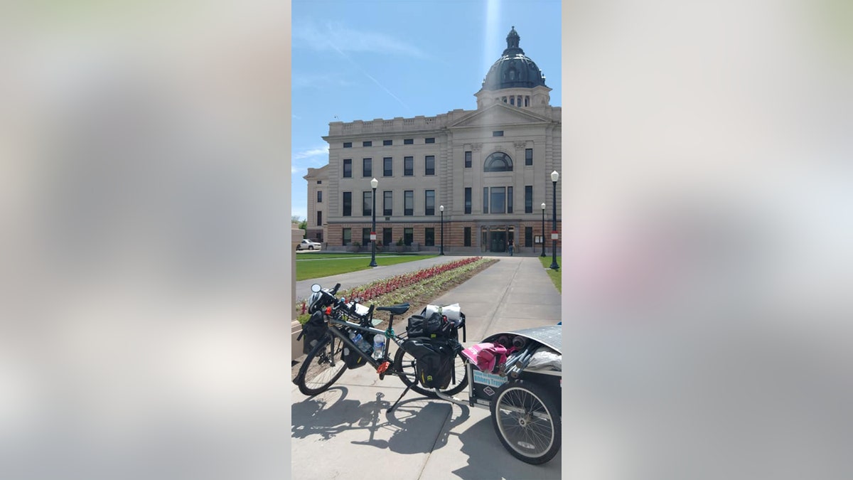
[[[462,350],[452,338],[410,338],[403,349],[415,357],[415,375],[426,389],[446,389],[454,376],[456,355]]]

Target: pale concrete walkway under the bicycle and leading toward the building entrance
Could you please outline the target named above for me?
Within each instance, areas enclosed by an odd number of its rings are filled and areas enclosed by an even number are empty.
[[[466,345],[496,331],[560,321],[560,294],[535,257],[500,257],[436,302],[460,303]],[[422,307],[413,305],[405,318]],[[369,366],[346,371],[334,387],[311,398],[293,385],[293,478],[560,478],[560,454],[545,465],[516,460],[498,440],[486,409],[409,391],[386,413],[403,388],[398,378],[380,380]],[[456,396],[467,398],[467,390]]]

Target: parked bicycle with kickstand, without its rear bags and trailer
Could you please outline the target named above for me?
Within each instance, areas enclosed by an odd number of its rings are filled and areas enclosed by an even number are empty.
[[[389,307],[375,307],[371,305],[367,312],[359,313],[358,307],[362,306],[357,301],[347,303],[343,298],[335,298],[335,294],[339,288],[340,284],[336,284],[334,289],[330,290],[322,289],[319,284],[311,285],[311,291],[314,294],[311,296],[309,311],[312,314],[322,312],[323,320],[327,323],[328,328],[314,348],[310,349],[302,366],[299,367],[299,373],[293,379],[293,383],[299,386],[300,392],[304,395],[317,395],[326,391],[337,382],[341,375],[349,368],[344,359],[345,348],[357,354],[358,357],[364,360],[365,365],[374,367],[380,379],[384,379],[386,375],[396,375],[400,378],[406,385],[403,395],[409,389],[413,389],[421,395],[430,398],[440,398],[439,394],[456,395],[467,387],[466,360],[461,352],[455,355],[452,377],[450,384],[446,388],[427,389],[419,384],[415,370],[415,357],[403,346],[404,342],[409,339],[408,335],[406,333],[397,335],[393,328],[394,317],[409,311],[410,306],[408,303]],[[374,310],[390,314],[386,330],[374,328]],[[357,322],[348,321],[349,319],[356,319]],[[363,337],[372,337],[374,335],[384,336],[386,342],[379,358],[374,359],[372,348],[368,348],[367,351],[358,348],[356,343],[349,337],[351,332],[362,333]],[[301,337],[302,334],[300,334],[299,338]],[[389,356],[392,342],[397,345],[397,352],[394,354],[393,360]],[[403,395],[400,395],[400,399],[403,398]],[[400,399],[397,399],[397,402],[388,409],[389,412],[397,406]]]

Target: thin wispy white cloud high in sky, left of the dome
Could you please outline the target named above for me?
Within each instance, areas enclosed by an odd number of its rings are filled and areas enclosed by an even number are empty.
[[[307,21],[293,26],[293,46],[313,50],[343,50],[352,52],[374,52],[426,58],[427,54],[397,38],[380,32],[360,32],[340,24],[327,23],[318,26]]]

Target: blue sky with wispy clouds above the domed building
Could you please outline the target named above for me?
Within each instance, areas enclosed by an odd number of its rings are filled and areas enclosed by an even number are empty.
[[[511,26],[553,89],[551,104],[562,104],[559,0],[293,0],[292,8],[292,209],[302,218],[302,177],[328,163],[329,122],[476,108]]]

